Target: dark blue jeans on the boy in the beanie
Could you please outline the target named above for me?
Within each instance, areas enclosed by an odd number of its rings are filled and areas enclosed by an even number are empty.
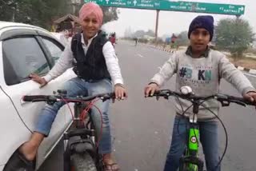
[[[187,118],[176,116],[174,120],[173,135],[169,153],[166,157],[164,171],[177,171],[179,159],[182,157],[188,140],[190,122]],[[203,153],[206,159],[207,171],[220,171],[218,165],[218,122],[199,121],[199,136],[202,143]]]

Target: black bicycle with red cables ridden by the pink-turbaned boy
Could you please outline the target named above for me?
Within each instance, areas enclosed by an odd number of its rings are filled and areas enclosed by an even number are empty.
[[[114,93],[101,93],[88,97],[66,97],[66,90],[64,89],[58,89],[57,93],[57,95],[24,96],[22,100],[46,101],[48,105],[53,105],[57,101],[64,101],[66,104],[74,103],[73,123],[63,135],[64,171],[102,171],[104,167],[102,155],[98,153],[100,136],[95,133],[90,108],[93,106],[97,108],[94,105],[95,101],[114,99]],[[88,103],[88,101],[90,102]],[[101,113],[99,109],[98,111]],[[72,113],[71,109],[70,112]]]

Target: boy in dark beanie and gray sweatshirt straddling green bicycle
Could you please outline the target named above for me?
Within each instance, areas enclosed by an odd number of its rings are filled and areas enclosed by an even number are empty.
[[[188,85],[198,96],[210,96],[218,93],[220,79],[225,78],[242,96],[249,101],[256,101],[256,90],[250,81],[229,62],[226,56],[216,50],[211,50],[208,43],[214,34],[214,18],[202,15],[194,18],[190,23],[188,38],[190,46],[186,50],[178,51],[162,66],[158,74],[154,75],[150,84],[146,85],[145,95],[154,94],[174,74],[176,76],[176,91]],[[180,100],[183,109],[190,103]],[[180,103],[176,101],[176,117],[174,120],[173,134],[169,153],[166,157],[165,171],[176,171],[179,159],[186,147],[186,125],[188,117],[193,114],[189,109],[182,115]],[[255,103],[256,104],[256,103]],[[218,101],[206,101],[204,105],[218,113]],[[218,121],[210,111],[200,108],[198,112],[198,125],[200,141],[206,158],[206,169],[220,171],[218,153]]]

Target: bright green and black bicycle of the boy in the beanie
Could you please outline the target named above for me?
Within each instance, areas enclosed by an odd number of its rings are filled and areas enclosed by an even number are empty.
[[[152,96],[149,97],[157,97],[157,100],[159,97],[164,97],[165,99],[169,99],[170,96],[191,101],[192,105],[190,105],[187,109],[185,109],[182,113],[186,113],[188,109],[193,107],[193,114],[190,114],[189,122],[190,126],[188,128],[188,140],[187,145],[184,150],[183,156],[179,160],[179,171],[203,171],[203,161],[201,158],[198,157],[198,140],[199,140],[199,127],[198,127],[198,111],[199,106],[202,105],[202,107],[208,109],[203,105],[204,101],[210,100],[210,99],[216,99],[217,101],[220,101],[222,104],[222,107],[229,106],[231,102],[236,103],[238,105],[254,105],[254,102],[246,101],[242,97],[234,97],[227,94],[214,94],[208,97],[198,97],[194,95],[192,92],[192,89],[189,86],[182,86],[181,93],[177,93],[174,91],[171,91],[170,89],[161,89],[158,92],[154,93]],[[214,114],[215,117],[218,118],[219,121],[220,118],[210,109],[208,109],[211,113]],[[222,121],[221,121],[222,123]],[[222,126],[226,133],[226,128],[224,124],[222,123]],[[218,166],[221,164],[223,157],[225,156],[226,149],[227,149],[227,133],[226,133],[226,148],[224,149],[224,152],[222,154],[222,157],[220,161],[218,162],[218,165],[215,166],[214,170],[218,168]],[[208,171],[214,171],[214,170],[208,170]]]

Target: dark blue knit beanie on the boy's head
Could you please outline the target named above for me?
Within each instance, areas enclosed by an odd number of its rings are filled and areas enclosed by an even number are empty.
[[[191,32],[198,28],[204,28],[209,31],[211,41],[214,35],[214,18],[210,15],[198,15],[198,17],[194,18],[194,20],[190,23],[188,37],[190,38]]]

